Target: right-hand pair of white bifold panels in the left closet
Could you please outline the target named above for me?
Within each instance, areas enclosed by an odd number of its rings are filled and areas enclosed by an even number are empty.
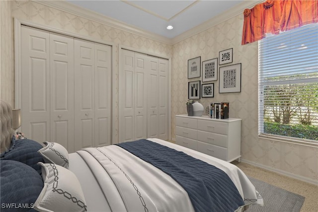
[[[75,150],[110,144],[110,47],[74,39]]]

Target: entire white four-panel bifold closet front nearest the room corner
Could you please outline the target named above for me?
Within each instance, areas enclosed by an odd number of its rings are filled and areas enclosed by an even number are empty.
[[[122,50],[119,142],[168,138],[168,62]]]

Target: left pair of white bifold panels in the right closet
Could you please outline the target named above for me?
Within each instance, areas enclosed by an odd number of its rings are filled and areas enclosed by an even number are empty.
[[[119,71],[119,142],[147,138],[147,56],[122,50]]]

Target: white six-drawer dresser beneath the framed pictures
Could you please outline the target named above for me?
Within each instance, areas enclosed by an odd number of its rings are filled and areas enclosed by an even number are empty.
[[[176,143],[213,157],[240,161],[241,119],[176,115]]]

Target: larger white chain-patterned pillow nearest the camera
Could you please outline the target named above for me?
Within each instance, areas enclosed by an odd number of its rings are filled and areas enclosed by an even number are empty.
[[[38,162],[42,166],[44,187],[34,203],[39,212],[85,212],[84,194],[76,175],[57,164]]]

